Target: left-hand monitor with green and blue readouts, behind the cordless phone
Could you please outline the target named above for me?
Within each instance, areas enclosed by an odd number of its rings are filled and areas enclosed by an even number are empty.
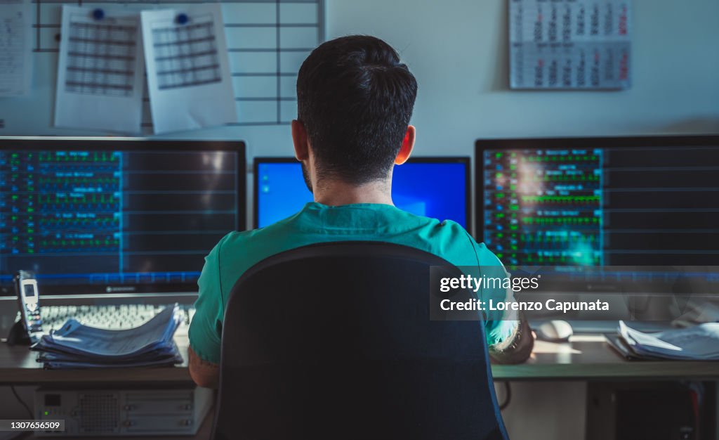
[[[245,228],[242,142],[0,139],[0,294],[196,292],[204,256]]]

